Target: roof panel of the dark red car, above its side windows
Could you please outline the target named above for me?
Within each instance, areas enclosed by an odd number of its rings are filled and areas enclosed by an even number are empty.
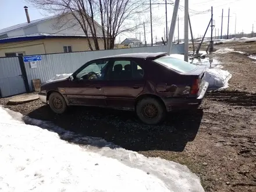
[[[161,56],[166,55],[166,52],[158,52],[158,53],[133,53],[133,54],[120,54],[120,55],[111,55],[105,56],[98,59],[106,59],[106,58],[141,58],[141,59],[157,59]]]

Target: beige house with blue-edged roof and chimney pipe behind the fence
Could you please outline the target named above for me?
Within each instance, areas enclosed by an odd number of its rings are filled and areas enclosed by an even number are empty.
[[[0,57],[90,51],[88,38],[72,15],[51,16],[0,30]],[[60,22],[61,20],[61,22]],[[70,22],[72,21],[72,22]],[[59,24],[59,26],[58,26]],[[104,49],[102,28],[96,25],[99,48]]]

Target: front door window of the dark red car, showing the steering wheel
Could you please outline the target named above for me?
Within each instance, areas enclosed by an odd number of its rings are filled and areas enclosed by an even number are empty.
[[[106,72],[108,61],[92,62],[90,65],[81,69],[76,75],[79,80],[103,80]]]

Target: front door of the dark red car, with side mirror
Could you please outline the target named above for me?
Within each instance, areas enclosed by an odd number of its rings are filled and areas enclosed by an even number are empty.
[[[73,74],[69,81],[66,97],[72,105],[105,106],[103,88],[105,83],[105,65],[108,61],[92,61]]]

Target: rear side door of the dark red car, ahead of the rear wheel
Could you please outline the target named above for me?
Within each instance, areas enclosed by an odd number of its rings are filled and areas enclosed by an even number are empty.
[[[140,73],[138,73],[140,70]],[[113,59],[108,67],[104,84],[106,105],[113,108],[133,109],[136,97],[143,91],[143,69],[131,59]]]

